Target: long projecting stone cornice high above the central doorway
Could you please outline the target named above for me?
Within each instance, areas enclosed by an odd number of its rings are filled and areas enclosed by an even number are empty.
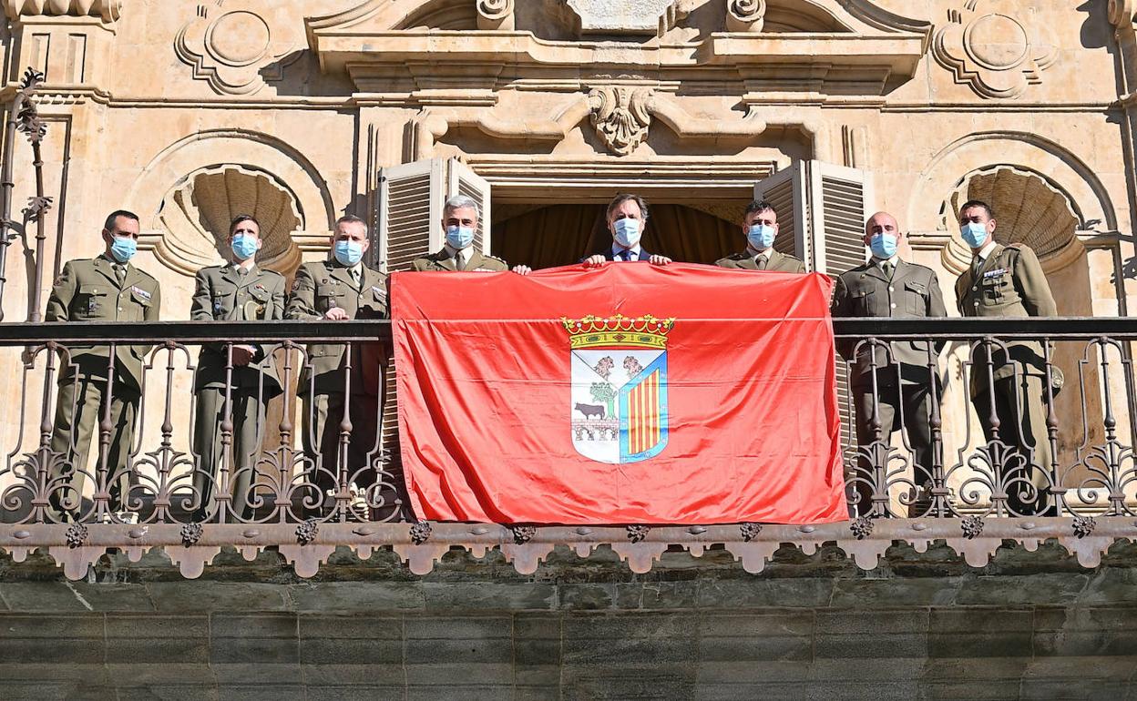
[[[549,42],[529,32],[357,32],[316,30],[310,48],[325,73],[347,73],[362,92],[390,85],[390,72],[429,65],[433,81],[453,76],[456,87],[493,87],[503,68],[650,73],[666,80],[696,67],[717,67],[729,80],[764,80],[792,89],[882,94],[911,80],[924,53],[922,34],[744,34],[715,33],[691,44]],[[379,80],[379,83],[374,78]],[[422,86],[420,86],[421,89]]]

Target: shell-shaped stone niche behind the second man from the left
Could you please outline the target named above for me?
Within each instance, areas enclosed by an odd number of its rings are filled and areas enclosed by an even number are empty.
[[[158,215],[165,233],[157,254],[188,274],[229,260],[229,225],[246,214],[260,223],[257,264],[285,275],[294,270],[300,249],[292,234],[304,228],[296,197],[272,175],[240,166],[198,170],[174,185]]]

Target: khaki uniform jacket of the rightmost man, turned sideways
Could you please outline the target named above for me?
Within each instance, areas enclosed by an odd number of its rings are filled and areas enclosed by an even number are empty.
[[[965,317],[1045,317],[1057,316],[1043,266],[1035,251],[1026,245],[995,245],[978,273],[969,266],[955,281],[955,298]],[[1020,372],[1045,374],[1043,345],[1037,341],[1009,343],[1010,361],[1024,364]],[[1014,365],[1002,350],[993,352],[995,379],[1014,376]],[[977,350],[971,374],[973,393],[986,391],[987,357]]]

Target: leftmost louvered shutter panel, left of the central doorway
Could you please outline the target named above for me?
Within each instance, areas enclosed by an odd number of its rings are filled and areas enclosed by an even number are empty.
[[[445,165],[431,159],[380,170],[373,248],[374,260],[384,273],[406,270],[415,258],[442,248]]]

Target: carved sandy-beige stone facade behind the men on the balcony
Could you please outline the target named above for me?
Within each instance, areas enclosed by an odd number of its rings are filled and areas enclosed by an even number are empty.
[[[533,207],[636,190],[733,222],[757,191],[797,215],[794,247],[824,272],[849,267],[833,251],[857,230],[822,226],[827,212],[886,209],[948,308],[966,260],[952,210],[986,197],[1003,234],[1041,254],[1062,314],[1127,315],[1137,292],[1129,0],[0,6],[7,94],[25,67],[45,74],[47,257],[96,254],[103,216],[138,211],[166,319],[188,316],[192,272],[219,259],[236,211],[271,218],[267,265],[285,274],[324,254],[342,212],[374,223],[376,260],[397,268],[440,245],[457,191],[482,201],[488,251],[495,226]],[[10,156],[18,211],[31,153],[17,141]],[[843,205],[835,183],[863,201]],[[395,212],[414,187],[432,197]],[[407,227],[414,242],[389,245]],[[30,269],[8,256],[7,320],[28,317]],[[944,362],[960,375],[958,351]],[[945,395],[953,445],[976,433],[961,389]],[[1077,416],[1074,394],[1060,412]],[[0,407],[9,448],[18,410]],[[1077,423],[1064,445],[1098,437]]]

